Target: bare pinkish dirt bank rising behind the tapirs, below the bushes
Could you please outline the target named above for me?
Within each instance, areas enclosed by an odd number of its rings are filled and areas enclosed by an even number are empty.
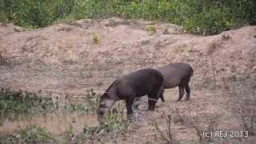
[[[155,27],[155,34],[146,31],[149,25]],[[123,74],[170,62],[190,63],[194,78],[202,81],[212,77],[212,69],[216,76],[256,70],[255,26],[202,37],[182,34],[180,26],[114,18],[17,31],[15,26],[2,25],[0,35],[2,59],[12,67],[1,67],[1,83],[14,88],[58,87],[66,93],[73,91],[72,85],[105,87]]]

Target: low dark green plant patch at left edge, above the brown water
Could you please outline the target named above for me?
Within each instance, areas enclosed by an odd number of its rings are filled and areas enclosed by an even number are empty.
[[[0,114],[28,114],[33,110],[47,110],[53,107],[51,98],[40,97],[37,94],[22,90],[0,90]]]

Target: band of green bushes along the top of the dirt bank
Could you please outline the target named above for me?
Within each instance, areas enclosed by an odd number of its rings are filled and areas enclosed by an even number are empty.
[[[1,22],[32,28],[112,16],[164,20],[198,34],[256,23],[254,0],[1,0],[0,6]]]

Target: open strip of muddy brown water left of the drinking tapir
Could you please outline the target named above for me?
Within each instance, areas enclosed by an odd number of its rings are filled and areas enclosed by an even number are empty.
[[[0,126],[0,134],[13,134],[14,130],[24,129],[28,125],[35,125],[46,129],[51,134],[63,134],[70,127],[74,132],[82,132],[83,126],[97,126],[95,115],[86,114],[39,114],[28,116],[21,120],[6,119]]]

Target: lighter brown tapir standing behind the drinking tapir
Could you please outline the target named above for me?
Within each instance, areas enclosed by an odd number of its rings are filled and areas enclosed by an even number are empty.
[[[164,89],[171,89],[178,86],[179,89],[179,97],[177,101],[180,101],[185,94],[184,89],[186,90],[186,100],[190,99],[190,78],[193,75],[193,68],[189,64],[176,62],[170,63],[167,66],[162,66],[157,69],[161,72],[164,82],[163,87]],[[163,94],[164,90],[162,90]],[[163,96],[160,96],[162,102],[165,102]],[[134,107],[139,106],[139,98],[136,98],[134,102]]]

